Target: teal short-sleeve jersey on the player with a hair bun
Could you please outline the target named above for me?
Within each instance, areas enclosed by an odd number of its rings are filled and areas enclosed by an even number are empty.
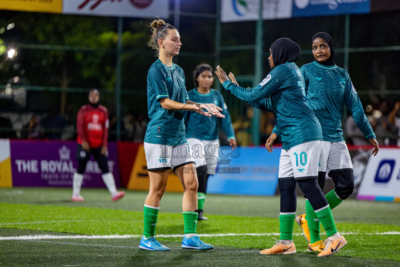
[[[189,100],[185,87],[185,75],[176,64],[168,67],[157,59],[147,75],[147,110],[150,118],[144,142],[161,145],[182,145],[186,143],[184,110],[166,110],[160,102],[170,98],[175,102]]]

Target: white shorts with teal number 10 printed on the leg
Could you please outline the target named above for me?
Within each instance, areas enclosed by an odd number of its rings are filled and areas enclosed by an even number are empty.
[[[318,178],[321,141],[310,141],[282,149],[278,180]]]

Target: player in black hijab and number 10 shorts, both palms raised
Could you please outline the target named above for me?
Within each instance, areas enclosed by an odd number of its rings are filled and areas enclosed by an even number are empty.
[[[336,253],[347,244],[336,229],[326,197],[318,186],[318,160],[322,130],[318,118],[308,107],[304,94],[304,79],[294,63],[300,55],[298,44],[288,38],[276,40],[268,58],[271,72],[256,87],[238,86],[230,73],[230,82],[224,70],[217,66],[217,76],[224,88],[238,98],[257,108],[274,112],[282,135],[282,151],[279,160],[278,184],[280,191],[280,240],[261,254],[294,254],[292,241],[296,213],[296,183],[310,200],[321,221],[328,240],[318,257]],[[268,96],[270,98],[266,99]]]

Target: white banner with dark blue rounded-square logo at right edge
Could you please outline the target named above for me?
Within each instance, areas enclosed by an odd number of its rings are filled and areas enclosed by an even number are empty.
[[[381,148],[370,156],[357,198],[400,201],[400,149]]]

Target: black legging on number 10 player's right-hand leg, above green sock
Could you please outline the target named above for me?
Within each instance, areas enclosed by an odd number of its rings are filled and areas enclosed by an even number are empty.
[[[308,201],[314,210],[321,209],[328,205],[328,201],[324,193],[322,193],[321,187],[318,185],[318,179],[310,178],[310,179],[301,179],[298,180],[300,189],[306,195]]]

